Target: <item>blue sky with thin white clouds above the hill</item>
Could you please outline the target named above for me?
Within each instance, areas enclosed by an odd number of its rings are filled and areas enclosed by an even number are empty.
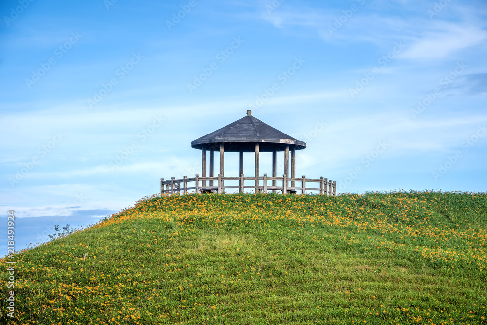
[[[486,191],[485,1],[7,0],[0,12],[0,222],[16,211],[17,249],[200,174],[191,141],[249,108],[307,142],[298,176],[338,192]],[[270,154],[261,162],[270,174]],[[229,153],[225,175],[237,171]]]

